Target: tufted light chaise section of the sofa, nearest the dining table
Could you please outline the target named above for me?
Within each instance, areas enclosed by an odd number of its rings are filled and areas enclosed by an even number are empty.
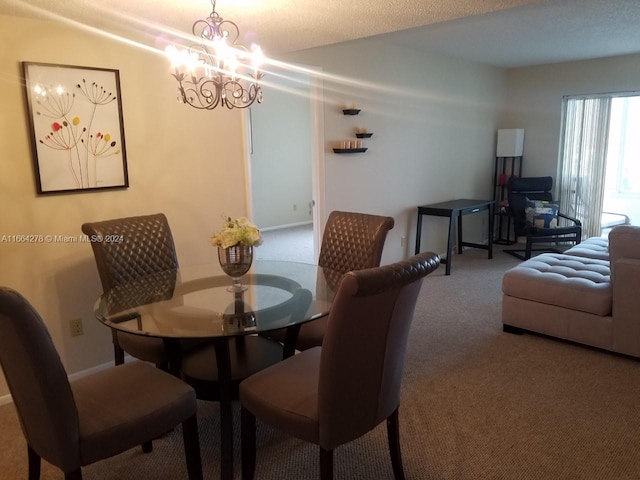
[[[505,295],[595,315],[611,314],[611,282],[606,260],[544,253],[507,271]]]

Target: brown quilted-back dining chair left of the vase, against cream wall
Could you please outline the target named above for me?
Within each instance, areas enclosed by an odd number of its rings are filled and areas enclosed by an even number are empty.
[[[89,237],[100,275],[102,290],[108,292],[141,277],[178,268],[173,235],[163,213],[115,218],[82,225]],[[162,339],[111,330],[116,365],[124,352],[168,368],[168,354]]]

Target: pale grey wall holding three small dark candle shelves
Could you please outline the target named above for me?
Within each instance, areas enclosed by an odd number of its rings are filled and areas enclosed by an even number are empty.
[[[383,263],[413,253],[418,205],[492,198],[496,130],[506,98],[502,69],[364,39],[284,60],[321,67],[324,79],[326,208],[395,218]],[[329,76],[347,77],[344,84]],[[371,86],[370,84],[373,84]],[[358,116],[342,109],[357,104]],[[364,154],[334,154],[356,127],[374,133]],[[475,216],[470,236],[481,236]],[[444,252],[447,222],[425,219],[422,250]],[[401,247],[401,237],[406,247]],[[480,241],[481,238],[469,238]]]

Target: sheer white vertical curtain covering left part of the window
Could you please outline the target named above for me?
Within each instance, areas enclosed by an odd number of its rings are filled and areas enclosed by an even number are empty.
[[[600,236],[611,97],[564,99],[560,210],[582,222],[582,236]]]

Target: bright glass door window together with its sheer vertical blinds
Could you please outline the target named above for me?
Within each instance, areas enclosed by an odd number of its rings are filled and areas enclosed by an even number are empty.
[[[565,97],[559,199],[584,237],[640,218],[638,131],[638,94]]]

